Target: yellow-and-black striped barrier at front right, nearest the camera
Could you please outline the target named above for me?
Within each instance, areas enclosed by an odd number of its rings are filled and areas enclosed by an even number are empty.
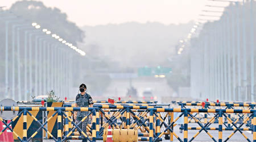
[[[249,119],[253,119],[253,128],[251,128],[251,131],[253,132],[253,141],[256,141],[256,110],[233,110],[233,109],[198,109],[198,108],[150,108],[150,137],[149,140],[150,141],[158,141],[160,139],[160,137],[162,137],[162,135],[164,135],[165,132],[167,132],[167,130],[170,130],[172,132],[172,135],[174,135],[176,137],[177,140],[179,141],[193,141],[195,139],[195,137],[197,135],[199,135],[200,132],[205,131],[207,133],[207,135],[209,135],[209,137],[213,140],[213,141],[222,141],[222,130],[225,130],[225,128],[223,127],[223,117],[228,119],[228,121],[233,124],[234,126],[234,131],[232,132],[232,134],[230,136],[228,136],[224,141],[228,141],[230,139],[230,137],[232,137],[234,135],[234,133],[236,133],[237,131],[240,132],[242,134],[243,137],[245,137],[245,139],[247,141],[251,141],[249,140],[249,138],[242,132],[242,131],[247,131],[247,129],[241,128],[244,124],[246,124]],[[158,135],[157,137],[154,137],[154,127],[152,127],[152,125],[154,124],[154,115],[156,117],[159,117],[157,115],[158,112],[181,112],[180,116],[177,117],[173,122],[171,122],[170,125],[164,123],[164,126],[166,126],[166,129],[164,131],[162,131],[160,133],[160,135]],[[214,113],[215,115],[213,116],[212,119],[209,120],[209,122],[207,122],[206,124],[202,124],[199,122],[199,120],[195,117],[193,117],[193,115],[191,114],[192,112],[208,112],[208,113]],[[249,114],[249,116],[247,118],[245,118],[243,120],[243,122],[241,124],[239,124],[239,126],[237,126],[229,117],[228,117],[228,113],[240,113],[240,114]],[[181,117],[184,116],[184,136],[183,136],[183,140],[181,140],[181,138],[174,132],[174,130],[171,128],[174,123]],[[188,140],[188,116],[191,116],[193,119],[195,119],[196,123],[199,124],[199,126],[201,127],[201,129],[195,134],[195,136],[193,136],[190,140]],[[159,118],[160,119],[160,118]],[[218,119],[218,139],[214,138],[210,132],[208,131],[208,126],[210,125],[210,123],[214,120],[214,119]],[[255,121],[254,121],[255,120]],[[196,129],[198,130],[198,129]]]

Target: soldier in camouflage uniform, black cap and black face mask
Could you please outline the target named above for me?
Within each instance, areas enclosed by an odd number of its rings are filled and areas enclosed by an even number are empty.
[[[89,106],[92,107],[92,105],[93,105],[92,97],[90,97],[89,94],[85,93],[86,85],[84,83],[82,83],[79,86],[79,90],[81,93],[77,94],[77,96],[76,96],[75,107],[89,107]],[[76,111],[74,113],[74,118],[76,120],[76,124],[78,124],[82,120],[82,118],[84,118],[88,114],[89,114],[88,111]],[[84,122],[82,122],[79,125],[81,130],[85,133],[86,133],[86,126],[87,126],[88,122],[89,122],[89,118],[86,118],[84,120]],[[81,135],[81,132],[80,132],[80,135]],[[85,142],[85,141],[87,141],[87,139],[85,138],[84,135],[82,135],[82,142]]]

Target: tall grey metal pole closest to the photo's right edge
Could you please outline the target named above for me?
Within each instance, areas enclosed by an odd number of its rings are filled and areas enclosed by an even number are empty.
[[[254,102],[254,18],[253,18],[253,0],[251,0],[250,10],[250,39],[251,39],[251,102]]]

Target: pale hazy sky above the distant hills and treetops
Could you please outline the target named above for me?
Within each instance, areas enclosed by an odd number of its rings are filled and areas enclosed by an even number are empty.
[[[17,0],[1,0],[10,7]],[[197,20],[207,4],[226,5],[208,0],[41,0],[44,5],[66,12],[78,26],[124,22],[186,23]],[[221,3],[221,4],[220,4]],[[216,13],[213,13],[216,15]]]

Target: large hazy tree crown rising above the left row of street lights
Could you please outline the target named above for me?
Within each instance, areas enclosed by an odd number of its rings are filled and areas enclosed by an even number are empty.
[[[84,32],[75,23],[68,21],[67,14],[56,7],[46,7],[43,2],[18,1],[10,7],[10,11],[31,22],[39,23],[43,28],[58,34],[74,45],[84,39]]]

